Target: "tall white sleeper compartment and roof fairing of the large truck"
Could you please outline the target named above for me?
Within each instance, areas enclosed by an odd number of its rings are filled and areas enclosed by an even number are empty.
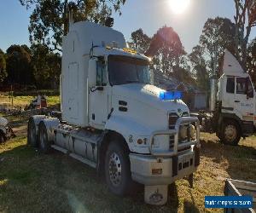
[[[103,43],[111,45],[113,41],[121,49],[126,47],[121,32],[86,21],[74,23],[63,37],[61,108],[63,119],[69,124],[89,125],[87,78],[90,49],[92,45],[102,47]]]

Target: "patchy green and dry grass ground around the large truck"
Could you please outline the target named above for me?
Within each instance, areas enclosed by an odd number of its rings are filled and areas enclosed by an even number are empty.
[[[15,118],[26,124],[26,118]],[[26,145],[26,131],[0,145],[0,212],[210,212],[204,196],[222,195],[225,178],[255,181],[256,138],[224,146],[201,134],[201,165],[194,188],[172,185],[164,206],[144,204],[143,193],[119,198],[108,192],[96,170],[58,152],[48,155]],[[223,210],[216,210],[223,212]]]

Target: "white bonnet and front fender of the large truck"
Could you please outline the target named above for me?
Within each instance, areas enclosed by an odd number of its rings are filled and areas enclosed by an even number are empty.
[[[130,135],[133,141],[128,143],[132,152],[149,153],[148,141],[152,132],[168,130],[168,113],[189,112],[189,108],[183,101],[160,101],[159,89],[153,85],[124,84],[113,86],[112,107],[114,109],[111,118],[108,119],[106,129],[118,131],[129,141]],[[119,100],[127,102],[127,112],[120,112]],[[146,145],[137,145],[138,138],[147,138]],[[156,136],[154,146],[159,150],[168,150],[169,136]]]

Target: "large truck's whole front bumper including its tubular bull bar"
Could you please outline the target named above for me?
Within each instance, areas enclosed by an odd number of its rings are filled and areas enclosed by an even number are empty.
[[[179,127],[195,123],[194,141],[178,143]],[[175,130],[154,132],[150,137],[150,155],[130,154],[131,177],[134,181],[147,186],[168,185],[177,179],[192,174],[200,164],[200,124],[197,118],[179,118]],[[174,135],[174,147],[170,151],[154,151],[152,146],[155,135]],[[183,147],[190,147],[178,152]]]

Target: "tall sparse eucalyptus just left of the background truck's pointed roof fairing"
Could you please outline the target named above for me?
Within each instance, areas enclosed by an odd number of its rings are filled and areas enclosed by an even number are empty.
[[[224,50],[235,53],[235,31],[235,24],[221,17],[208,19],[203,26],[199,44],[189,54],[197,85],[201,89],[209,89],[209,78],[221,75]]]

